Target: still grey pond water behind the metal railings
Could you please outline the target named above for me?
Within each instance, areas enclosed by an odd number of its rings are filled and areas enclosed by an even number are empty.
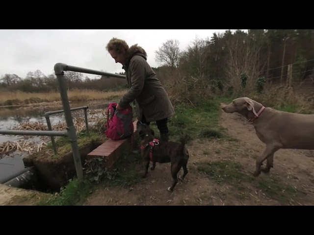
[[[112,102],[112,101],[110,101]],[[95,103],[90,101],[80,102],[80,103],[71,103],[70,107],[81,107],[81,106],[88,106],[88,110],[103,110],[108,106],[108,101],[102,101]],[[48,111],[55,111],[55,110],[62,110],[62,104],[59,106],[54,107],[41,107],[37,108],[36,110],[27,110],[27,109],[18,109],[20,107],[5,107],[0,108],[0,130],[9,130],[13,129],[15,126],[30,121],[30,122],[37,122],[40,121],[43,124],[47,125],[46,118],[44,114]],[[84,111],[78,110],[73,111],[72,114],[74,117],[75,115],[79,115],[84,117]],[[88,116],[89,117],[89,116]],[[50,116],[50,121],[53,125],[57,124],[59,121],[65,122],[64,114],[54,114]],[[90,124],[91,122],[88,121]],[[18,141],[18,140],[25,140],[27,141],[35,141],[35,142],[42,142],[43,137],[33,137],[33,136],[15,136],[15,135],[1,135],[0,134],[0,144],[6,141]],[[50,137],[44,137],[46,140],[50,141]],[[47,142],[47,141],[46,141]],[[26,157],[28,154],[25,152],[13,152],[10,154],[2,154],[0,153],[0,184],[6,182],[8,179],[15,177],[16,174],[21,172],[25,169],[23,158]]]

